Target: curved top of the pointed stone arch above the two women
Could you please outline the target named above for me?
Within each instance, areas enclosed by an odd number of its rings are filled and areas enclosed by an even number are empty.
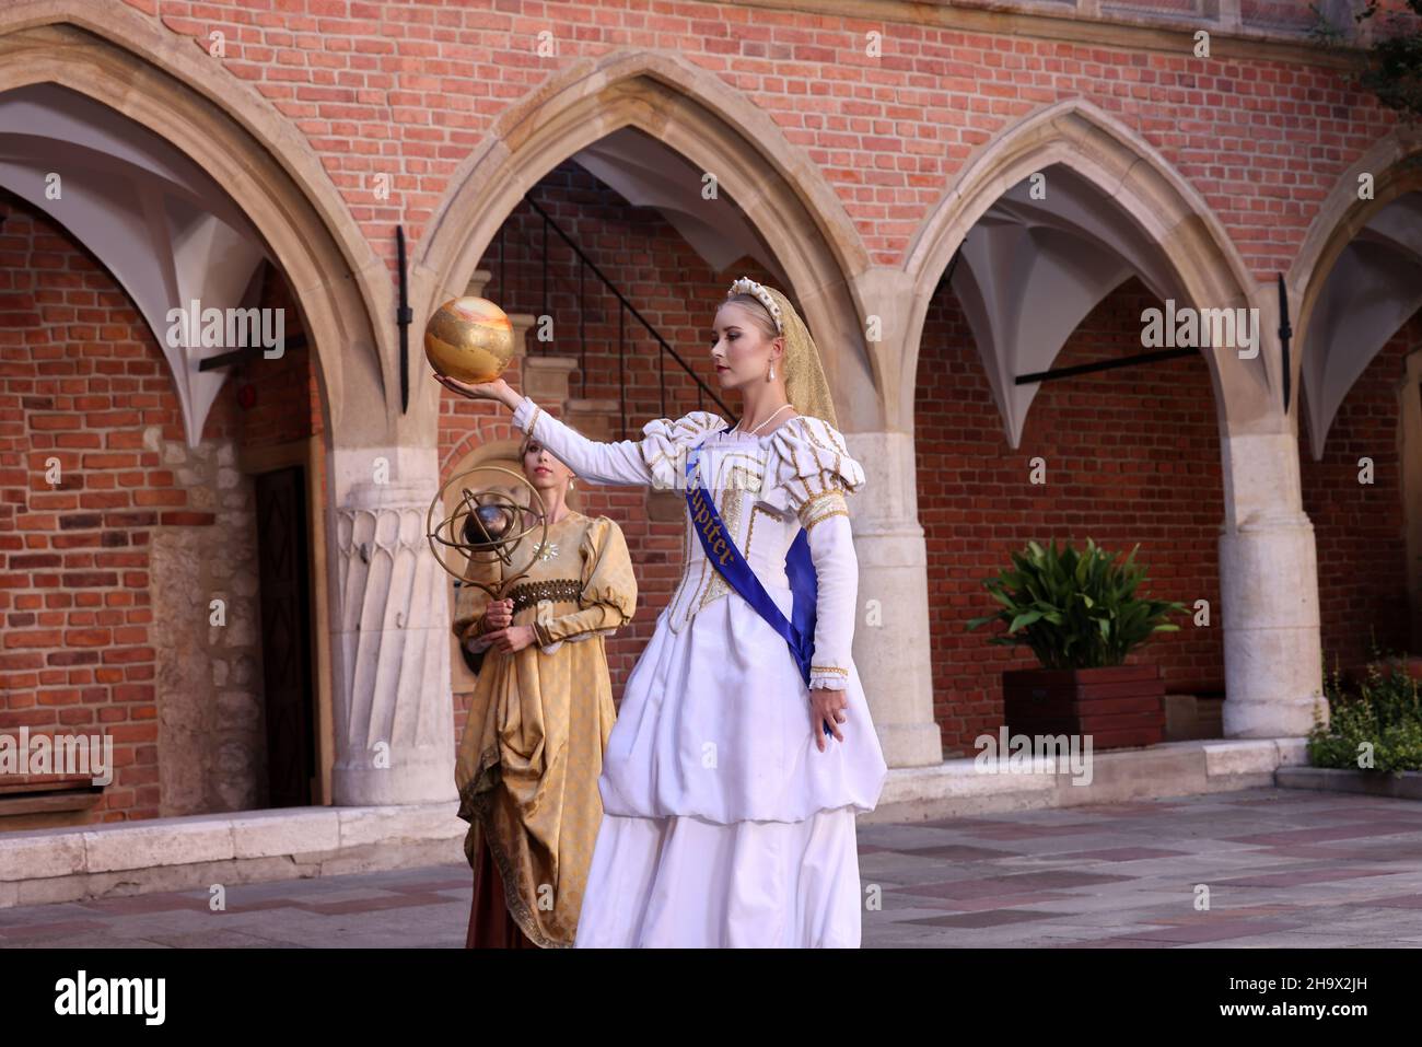
[[[786,290],[805,310],[843,427],[873,428],[879,367],[860,323],[855,277],[869,257],[857,230],[816,165],[764,110],[673,54],[580,61],[508,110],[455,171],[425,230],[419,306],[428,310],[464,294],[523,193],[556,164],[623,127],[650,134],[717,176],[789,275]]]

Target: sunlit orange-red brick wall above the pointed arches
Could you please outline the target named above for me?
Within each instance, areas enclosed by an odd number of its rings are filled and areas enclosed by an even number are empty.
[[[1340,73],[1260,54],[1197,60],[894,20],[691,0],[479,6],[127,0],[208,50],[307,135],[367,238],[417,242],[455,168],[510,105],[582,58],[664,50],[768,114],[839,195],[872,260],[900,262],[929,209],[994,134],[1085,98],[1143,135],[1206,199],[1257,279],[1293,260],[1318,202],[1394,122]],[[870,57],[866,34],[882,34]],[[538,53],[539,34],[556,55]],[[1106,38],[1103,28],[1102,37]],[[471,40],[478,40],[471,47]],[[394,178],[388,201],[373,176]]]

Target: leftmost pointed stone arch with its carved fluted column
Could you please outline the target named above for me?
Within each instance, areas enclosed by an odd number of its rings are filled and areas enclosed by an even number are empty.
[[[7,6],[0,92],[34,84],[85,95],[171,144],[212,175],[284,272],[330,422],[321,660],[333,799],[452,798],[448,612],[422,541],[438,477],[434,397],[401,411],[388,267],[304,135],[191,38],[132,7]]]

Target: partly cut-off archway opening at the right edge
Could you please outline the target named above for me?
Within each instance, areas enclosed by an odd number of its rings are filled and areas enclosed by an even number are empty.
[[[1332,671],[1422,649],[1422,135],[1398,128],[1342,174],[1290,285]]]

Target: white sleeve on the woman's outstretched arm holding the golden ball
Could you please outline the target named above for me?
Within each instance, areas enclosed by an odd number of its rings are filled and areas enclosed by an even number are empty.
[[[574,475],[594,484],[640,484],[657,491],[681,488],[678,467],[684,448],[725,425],[710,411],[691,411],[680,418],[656,418],[641,427],[643,440],[597,441],[559,421],[523,397],[513,424],[540,441]]]

